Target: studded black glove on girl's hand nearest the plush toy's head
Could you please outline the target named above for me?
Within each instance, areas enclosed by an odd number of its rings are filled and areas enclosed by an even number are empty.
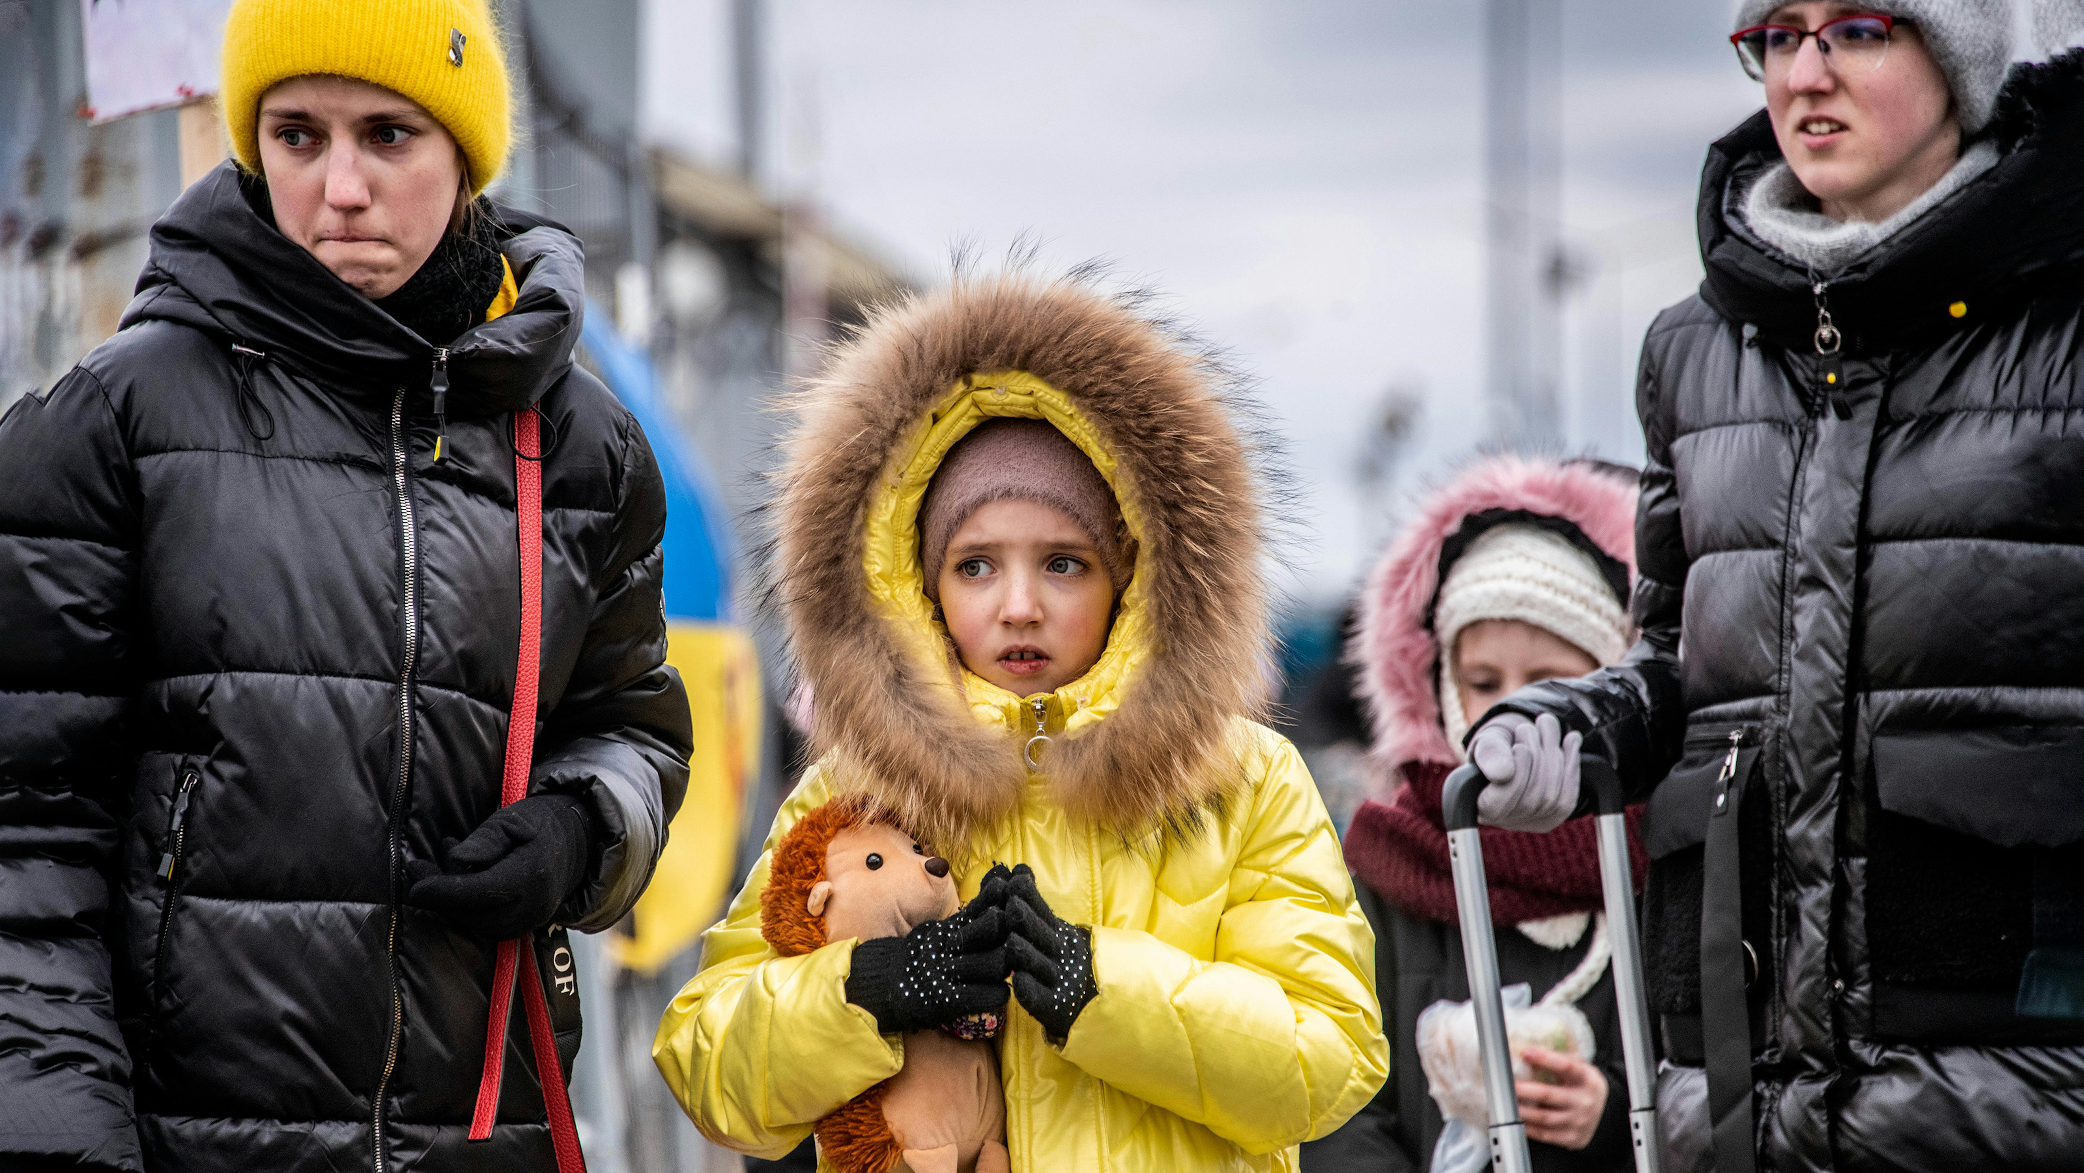
[[[1007,1004],[1007,879],[994,865],[977,898],[902,938],[854,946],[846,1000],[884,1033],[921,1031]]]

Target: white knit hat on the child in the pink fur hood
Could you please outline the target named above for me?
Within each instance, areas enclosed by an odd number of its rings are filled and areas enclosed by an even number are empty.
[[[1590,554],[1534,525],[1486,529],[1448,569],[1434,604],[1440,723],[1457,756],[1463,756],[1461,738],[1469,731],[1469,715],[1461,710],[1455,679],[1455,640],[1463,627],[1486,619],[1532,623],[1601,665],[1619,660],[1634,635],[1621,600]]]

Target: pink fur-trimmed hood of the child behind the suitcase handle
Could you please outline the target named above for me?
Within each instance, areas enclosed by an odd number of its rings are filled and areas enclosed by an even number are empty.
[[[1432,610],[1446,565],[1478,533],[1503,523],[1561,533],[1594,563],[1607,563],[1623,594],[1634,579],[1636,483],[1615,471],[1586,460],[1492,456],[1425,498],[1367,573],[1359,629],[1346,648],[1375,733],[1371,754],[1386,771],[1407,763],[1457,765],[1434,692],[1440,644]]]

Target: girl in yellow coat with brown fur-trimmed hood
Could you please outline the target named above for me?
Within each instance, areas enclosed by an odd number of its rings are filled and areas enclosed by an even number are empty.
[[[775,598],[821,758],[767,848],[871,794],[1002,931],[784,958],[763,854],[659,1025],[681,1106],[777,1156],[902,1031],[1009,1004],[1015,1171],[1294,1169],[1388,1048],[1338,835],[1252,721],[1263,506],[1221,369],[1132,302],[1000,277],[877,313],[794,410]],[[979,900],[994,865],[1025,867]]]

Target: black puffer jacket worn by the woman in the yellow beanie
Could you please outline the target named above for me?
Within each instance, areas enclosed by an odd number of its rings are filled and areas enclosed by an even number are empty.
[[[431,346],[229,165],[152,229],[123,331],[0,423],[0,1167],[554,1167],[525,1029],[465,1156],[492,944],[396,881],[498,806],[506,413],[556,433],[529,785],[596,844],[563,921],[644,888],[690,725],[659,469],[571,363],[579,246],[502,229],[521,300],[452,342],[442,463]]]

